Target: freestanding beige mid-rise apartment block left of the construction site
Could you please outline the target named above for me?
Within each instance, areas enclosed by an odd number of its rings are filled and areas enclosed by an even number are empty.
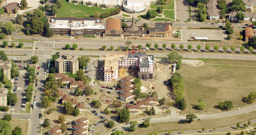
[[[57,73],[69,72],[75,74],[78,71],[79,63],[77,58],[81,57],[80,54],[59,53],[58,56],[59,58],[54,61]]]

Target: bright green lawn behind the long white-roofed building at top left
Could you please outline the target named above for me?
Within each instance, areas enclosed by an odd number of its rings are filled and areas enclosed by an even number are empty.
[[[58,9],[57,17],[94,17],[95,11],[100,13],[110,13],[115,8],[102,9],[100,7],[88,7],[82,4],[74,5],[63,1],[63,6]]]

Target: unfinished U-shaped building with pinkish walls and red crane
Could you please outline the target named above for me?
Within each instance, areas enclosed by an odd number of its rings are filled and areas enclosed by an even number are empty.
[[[106,55],[104,65],[104,81],[118,79],[119,68],[138,70],[139,79],[154,78],[154,57],[145,52]]]

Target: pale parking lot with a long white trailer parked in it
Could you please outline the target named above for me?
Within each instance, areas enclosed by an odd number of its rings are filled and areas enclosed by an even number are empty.
[[[220,25],[216,24],[216,26],[219,27]],[[224,40],[227,37],[227,35],[224,34],[224,30],[217,30],[217,29],[205,30],[205,29],[189,29],[189,28],[183,28],[183,29],[182,29],[183,41],[187,41],[188,39],[191,39],[191,37],[194,37],[194,38],[208,37],[208,40]],[[195,35],[191,36],[191,34],[195,34]]]

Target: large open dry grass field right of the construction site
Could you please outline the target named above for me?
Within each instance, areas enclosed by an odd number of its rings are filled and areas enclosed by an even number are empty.
[[[256,83],[252,83],[256,82],[256,67],[206,65],[193,68],[182,64],[179,72],[184,81],[187,101],[183,114],[221,111],[216,105],[225,100],[232,101],[235,108],[247,105],[241,100],[256,87]],[[206,109],[193,109],[199,99],[206,102]]]

